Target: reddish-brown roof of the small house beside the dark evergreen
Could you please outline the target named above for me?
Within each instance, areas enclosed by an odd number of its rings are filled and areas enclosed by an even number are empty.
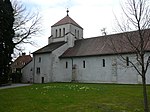
[[[11,68],[23,68],[29,62],[32,61],[32,57],[30,55],[22,55],[19,56],[12,64]]]

